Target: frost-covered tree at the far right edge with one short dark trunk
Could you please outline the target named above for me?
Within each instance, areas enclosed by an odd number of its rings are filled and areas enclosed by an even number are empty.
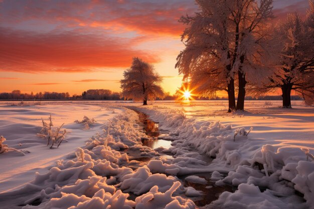
[[[276,71],[265,85],[266,90],[280,88],[282,107],[291,108],[291,91],[301,94],[305,102],[314,98],[314,4],[310,1],[306,20],[296,13],[288,14],[278,24],[275,36],[280,43],[280,58]]]

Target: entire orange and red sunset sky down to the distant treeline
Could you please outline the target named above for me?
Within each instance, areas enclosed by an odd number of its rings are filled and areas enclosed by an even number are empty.
[[[307,0],[274,0],[278,19],[305,15]],[[0,0],[0,92],[121,91],[133,57],[152,63],[166,92],[182,76],[181,16],[193,0]]]

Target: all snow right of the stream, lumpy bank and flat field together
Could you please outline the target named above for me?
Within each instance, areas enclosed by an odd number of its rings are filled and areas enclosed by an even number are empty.
[[[308,156],[314,150],[311,142],[314,133],[314,111],[301,102],[295,103],[296,109],[287,110],[278,108],[280,102],[277,107],[265,108],[262,107],[262,101],[252,101],[248,102],[247,112],[234,114],[223,113],[218,105],[213,107],[206,102],[197,101],[172,105],[156,102],[153,106],[139,107],[138,110],[148,113],[154,121],[162,122],[161,128],[170,130],[174,140],[174,147],[168,151],[176,158],[171,165],[160,164],[159,172],[167,173],[168,167],[174,169],[176,165],[178,174],[196,173],[203,169],[204,172],[213,172],[212,180],[218,185],[228,183],[236,186],[244,184],[248,185],[248,188],[265,187],[265,192],[255,192],[254,195],[264,196],[262,199],[265,199],[266,195],[266,200],[270,202],[276,202],[277,200],[273,199],[278,195],[282,196],[279,203],[273,204],[274,208],[312,208],[309,196],[313,196],[314,191],[314,169],[307,164],[313,164]],[[224,106],[223,102],[221,106]],[[182,112],[178,114],[180,110]],[[186,118],[182,117],[179,121],[176,117],[182,114],[185,114]],[[189,162],[191,150],[197,150],[200,154],[193,156],[193,162]],[[201,155],[214,159],[206,165],[203,161],[197,161],[201,159]],[[179,157],[181,160],[176,160]],[[296,163],[298,167],[291,163]],[[228,174],[223,177],[219,172]],[[245,188],[244,185],[242,187]],[[304,194],[306,203],[295,195],[295,190]],[[244,191],[237,191],[237,195],[243,196],[243,199],[239,198],[239,202],[246,201],[245,196],[249,192]],[[236,207],[237,201],[232,195],[236,196],[230,194],[229,202],[229,196],[223,193],[212,203],[213,208],[220,207],[220,202],[226,203],[222,207],[233,204]],[[224,197],[226,199],[223,199]],[[248,199],[250,201],[247,201],[247,205],[250,202],[252,205],[261,205],[260,208],[272,205],[267,201],[261,203],[259,197]],[[293,201],[295,202],[291,203]]]

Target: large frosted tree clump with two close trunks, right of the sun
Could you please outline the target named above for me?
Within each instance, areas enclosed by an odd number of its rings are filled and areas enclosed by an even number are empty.
[[[200,12],[182,17],[188,25],[182,35],[186,48],[176,67],[192,86],[206,96],[217,90],[228,93],[229,109],[244,109],[248,80],[266,77],[268,19],[271,0],[196,0]],[[239,81],[237,105],[234,80]]]

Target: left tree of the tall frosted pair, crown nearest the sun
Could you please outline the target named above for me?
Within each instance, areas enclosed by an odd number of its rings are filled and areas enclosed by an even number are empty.
[[[179,20],[187,25],[181,38],[186,48],[180,52],[176,68],[184,79],[189,78],[196,93],[213,96],[216,91],[227,91],[231,112],[236,105],[227,2],[196,2],[200,12]]]

